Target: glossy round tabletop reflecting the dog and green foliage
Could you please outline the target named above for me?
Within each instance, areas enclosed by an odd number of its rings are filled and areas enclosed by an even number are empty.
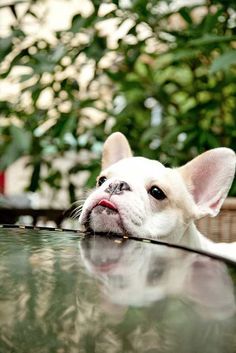
[[[236,267],[134,240],[0,229],[0,352],[236,352]]]

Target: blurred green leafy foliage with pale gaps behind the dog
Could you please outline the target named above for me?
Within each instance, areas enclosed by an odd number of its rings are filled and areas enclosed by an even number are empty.
[[[1,0],[0,19],[0,207],[69,208],[117,130],[167,166],[235,149],[235,0]]]

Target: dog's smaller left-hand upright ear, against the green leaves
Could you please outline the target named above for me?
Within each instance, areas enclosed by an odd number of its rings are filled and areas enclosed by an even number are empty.
[[[102,169],[128,157],[132,157],[129,142],[123,134],[114,132],[106,139],[103,146]]]

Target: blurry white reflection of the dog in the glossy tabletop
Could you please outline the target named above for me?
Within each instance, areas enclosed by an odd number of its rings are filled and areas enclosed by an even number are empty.
[[[86,237],[81,253],[88,271],[102,283],[113,304],[147,306],[170,297],[190,301],[206,318],[235,314],[235,296],[226,265],[166,246]]]

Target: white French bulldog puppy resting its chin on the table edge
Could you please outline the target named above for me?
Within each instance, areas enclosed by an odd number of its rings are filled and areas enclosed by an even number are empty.
[[[133,235],[207,250],[236,260],[235,243],[214,243],[196,219],[218,214],[234,179],[236,156],[209,150],[180,168],[133,157],[119,132],[105,141],[97,189],[85,201],[79,222],[87,230]]]

